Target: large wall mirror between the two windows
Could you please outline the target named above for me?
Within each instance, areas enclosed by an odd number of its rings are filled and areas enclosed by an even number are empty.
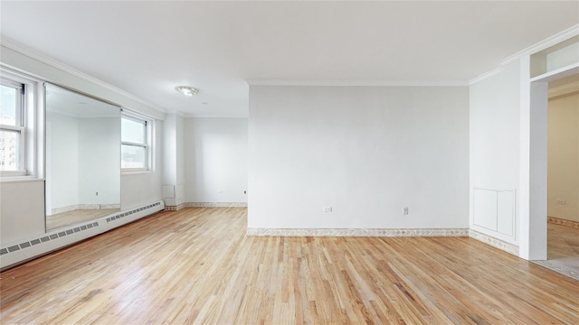
[[[46,84],[46,230],[120,210],[120,107]]]

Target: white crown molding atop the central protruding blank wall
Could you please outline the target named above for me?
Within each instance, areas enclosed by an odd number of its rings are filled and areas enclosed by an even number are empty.
[[[247,79],[250,86],[328,86],[328,87],[462,87],[469,86],[469,81],[462,80],[280,80],[280,79]]]

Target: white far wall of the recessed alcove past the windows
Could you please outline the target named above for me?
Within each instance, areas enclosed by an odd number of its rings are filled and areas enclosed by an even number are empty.
[[[185,119],[187,202],[247,202],[247,118]]]

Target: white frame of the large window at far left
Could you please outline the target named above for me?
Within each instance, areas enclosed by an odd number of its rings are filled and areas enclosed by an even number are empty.
[[[14,88],[21,88],[18,103],[17,125],[0,125],[6,131],[20,133],[19,141],[19,161],[17,171],[1,171],[2,181],[22,180],[26,178],[42,177],[40,159],[43,154],[38,151],[38,143],[42,143],[43,128],[42,113],[42,81],[33,79],[23,73],[10,70],[5,67],[0,68],[0,83]]]

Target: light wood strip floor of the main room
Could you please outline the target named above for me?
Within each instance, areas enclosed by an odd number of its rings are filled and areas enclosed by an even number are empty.
[[[579,282],[468,237],[246,237],[162,212],[0,274],[2,324],[579,323]]]

